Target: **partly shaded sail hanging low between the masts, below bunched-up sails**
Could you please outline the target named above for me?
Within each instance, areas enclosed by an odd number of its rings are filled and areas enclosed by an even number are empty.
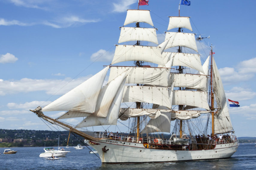
[[[174,112],[162,112],[161,115],[156,119],[150,119],[149,123],[140,132],[143,133],[153,133],[153,132],[168,132],[170,133],[170,126],[172,117],[175,117]],[[175,120],[175,119],[174,119]]]

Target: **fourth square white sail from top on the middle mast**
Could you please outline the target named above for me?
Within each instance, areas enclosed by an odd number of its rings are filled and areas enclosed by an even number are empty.
[[[191,89],[207,90],[207,76],[196,74],[171,73],[168,86],[174,84],[174,87],[187,87]]]

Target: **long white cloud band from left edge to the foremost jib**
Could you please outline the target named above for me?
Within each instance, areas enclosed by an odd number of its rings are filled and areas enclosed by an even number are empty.
[[[65,78],[64,80],[30,78],[22,78],[16,81],[4,80],[0,81],[0,95],[35,91],[46,91],[50,95],[63,95],[90,77],[91,75],[88,75],[73,80],[71,78]]]

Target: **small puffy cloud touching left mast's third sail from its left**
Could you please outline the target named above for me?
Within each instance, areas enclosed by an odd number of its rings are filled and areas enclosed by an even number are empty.
[[[114,57],[114,51],[113,52],[109,52],[106,50],[99,50],[95,53],[93,53],[90,57],[91,61],[107,61],[107,62],[111,62],[113,57]]]

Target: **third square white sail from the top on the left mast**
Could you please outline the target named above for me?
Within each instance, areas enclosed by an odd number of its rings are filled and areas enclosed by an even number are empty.
[[[161,56],[161,47],[116,45],[115,55],[111,64],[123,61],[146,61],[164,64]]]

